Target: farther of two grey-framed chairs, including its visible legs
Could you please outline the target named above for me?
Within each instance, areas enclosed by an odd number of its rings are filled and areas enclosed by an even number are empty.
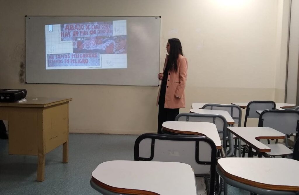
[[[223,104],[205,104],[202,109],[208,109],[208,110],[225,110],[227,111],[231,117],[234,119],[235,124],[238,124],[238,127],[241,127],[241,119],[242,119],[242,110],[238,105],[223,105]],[[233,139],[235,139],[236,136],[233,135]],[[237,145],[239,143],[239,157],[241,157],[241,142],[239,139],[235,140],[235,150],[234,155],[237,154]],[[226,147],[225,147],[226,148]]]

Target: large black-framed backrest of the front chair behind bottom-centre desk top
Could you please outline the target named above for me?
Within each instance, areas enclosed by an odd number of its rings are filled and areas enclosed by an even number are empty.
[[[191,165],[195,176],[210,174],[209,194],[214,194],[216,146],[208,137],[145,133],[135,141],[134,158]]]

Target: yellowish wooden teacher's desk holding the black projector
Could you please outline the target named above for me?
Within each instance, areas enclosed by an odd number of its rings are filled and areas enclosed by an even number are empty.
[[[37,155],[37,181],[45,178],[45,154],[63,144],[68,162],[68,102],[71,98],[27,97],[26,102],[0,103],[0,119],[8,120],[8,153]]]

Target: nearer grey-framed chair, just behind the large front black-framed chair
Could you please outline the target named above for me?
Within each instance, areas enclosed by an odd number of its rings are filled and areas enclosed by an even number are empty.
[[[223,146],[227,140],[227,122],[224,116],[219,114],[199,114],[199,113],[179,113],[175,121],[192,121],[192,122],[210,122],[216,125],[216,128],[219,133],[220,139],[223,139]],[[165,131],[162,130],[163,133]],[[230,148],[233,148],[233,141],[231,139],[228,140],[230,144]],[[226,152],[226,147],[223,147]],[[231,156],[233,154],[233,150],[230,150],[227,156]]]

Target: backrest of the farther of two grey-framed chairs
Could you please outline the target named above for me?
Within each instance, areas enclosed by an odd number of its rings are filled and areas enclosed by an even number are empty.
[[[202,109],[208,110],[225,110],[231,115],[234,119],[235,124],[238,124],[241,127],[242,119],[242,110],[238,105],[229,105],[229,104],[205,104]]]

